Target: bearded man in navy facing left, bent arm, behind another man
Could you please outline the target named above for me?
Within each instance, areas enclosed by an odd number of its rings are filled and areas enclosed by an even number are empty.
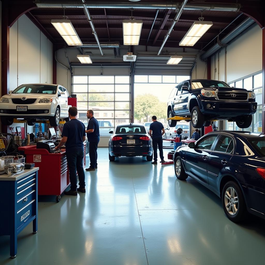
[[[86,113],[89,123],[87,125],[86,133],[87,140],[89,141],[89,158],[90,158],[90,167],[86,171],[95,170],[98,168],[98,143],[99,143],[99,123],[94,117],[94,112],[89,109]]]

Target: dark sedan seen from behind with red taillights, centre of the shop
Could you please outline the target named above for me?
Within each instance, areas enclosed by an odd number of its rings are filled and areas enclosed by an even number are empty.
[[[143,125],[117,125],[109,139],[109,161],[121,156],[145,156],[147,161],[153,159],[152,139]]]

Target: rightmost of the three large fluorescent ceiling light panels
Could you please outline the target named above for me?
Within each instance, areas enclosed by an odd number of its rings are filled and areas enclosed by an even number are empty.
[[[193,46],[212,25],[211,21],[195,21],[180,41],[179,46]]]

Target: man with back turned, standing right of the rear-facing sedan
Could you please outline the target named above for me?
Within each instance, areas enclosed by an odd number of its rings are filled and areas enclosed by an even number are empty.
[[[159,149],[159,156],[161,163],[165,163],[163,156],[163,139],[162,135],[165,133],[164,126],[161,122],[156,120],[156,116],[152,116],[152,123],[150,124],[149,135],[153,140],[153,150],[154,150],[154,162],[151,164],[157,165],[157,145]]]

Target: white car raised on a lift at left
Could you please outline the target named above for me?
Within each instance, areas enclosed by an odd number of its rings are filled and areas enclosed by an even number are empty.
[[[14,118],[23,119],[33,126],[36,120],[49,120],[58,126],[60,118],[69,121],[69,94],[61,85],[24,84],[0,99],[1,122],[11,125]]]

